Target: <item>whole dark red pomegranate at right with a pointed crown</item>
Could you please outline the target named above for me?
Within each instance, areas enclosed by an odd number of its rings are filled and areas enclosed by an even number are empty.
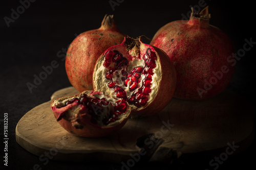
[[[234,67],[227,58],[234,53],[232,42],[219,28],[209,25],[209,20],[208,7],[192,12],[188,21],[177,20],[160,28],[150,43],[174,62],[175,98],[207,99],[222,92],[231,81]]]

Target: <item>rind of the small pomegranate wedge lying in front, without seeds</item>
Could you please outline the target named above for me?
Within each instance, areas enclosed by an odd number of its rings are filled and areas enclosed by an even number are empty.
[[[67,101],[69,99],[79,97],[82,94],[88,94],[90,96],[90,94],[93,94],[93,93],[102,94],[102,92],[86,90],[86,91],[83,91],[83,92],[73,95],[73,96],[55,99],[51,102],[51,108],[52,108],[53,114],[54,114],[55,118],[58,120],[57,122],[60,124],[60,126],[62,128],[64,128],[69,133],[76,135],[76,136],[94,137],[95,138],[95,137],[104,137],[104,136],[113,134],[125,125],[125,123],[129,119],[129,116],[131,113],[131,107],[129,106],[128,103],[126,103],[127,108],[126,108],[125,114],[122,114],[120,119],[118,119],[115,122],[110,123],[108,125],[104,125],[104,126],[99,126],[97,124],[91,123],[91,121],[90,121],[91,115],[90,114],[83,113],[82,117],[78,116],[78,118],[77,118],[77,115],[79,115],[79,111],[82,107],[81,105],[79,105],[77,103],[72,103],[72,104],[69,104],[69,105],[67,105],[65,107],[61,107],[61,108],[56,107],[56,103],[58,103],[58,102]],[[105,96],[105,98],[109,98],[109,97]],[[117,102],[117,101],[118,100],[115,100],[115,102]],[[60,117],[62,112],[65,112],[65,115]]]

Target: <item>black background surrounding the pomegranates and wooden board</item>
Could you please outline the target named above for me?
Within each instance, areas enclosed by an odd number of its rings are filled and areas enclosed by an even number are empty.
[[[115,0],[114,0],[115,1]],[[105,14],[114,14],[118,28],[131,37],[145,35],[153,38],[156,31],[173,20],[187,15],[189,6],[198,5],[199,1],[129,1],[124,0],[111,8],[106,1],[40,1],[30,3],[30,7],[20,14],[10,27],[4,17],[11,17],[11,9],[16,11],[19,1],[1,2],[1,100],[0,119],[8,113],[9,143],[8,169],[32,169],[39,164],[42,169],[120,169],[120,164],[86,162],[72,163],[50,160],[42,164],[38,157],[27,152],[15,141],[15,127],[18,120],[35,106],[50,100],[51,94],[71,84],[66,75],[65,61],[57,57],[62,48],[67,48],[76,35],[100,27]],[[233,41],[236,51],[243,48],[245,39],[252,38],[255,21],[254,5],[251,1],[231,1],[223,3],[217,0],[205,0],[211,14],[210,24],[219,27]],[[202,9],[201,9],[202,10]],[[236,72],[229,89],[255,103],[255,48],[237,62]],[[63,53],[61,53],[63,54]],[[42,66],[48,66],[56,60],[59,64],[37,88],[29,91],[26,83],[33,83],[33,75],[39,75]],[[241,113],[242,114],[242,113]],[[3,143],[3,123],[1,123],[1,146]],[[255,142],[254,142],[255,143]],[[254,166],[254,143],[244,152],[232,155],[218,169],[249,169]],[[4,164],[1,147],[1,166]],[[218,156],[218,155],[216,155]],[[137,164],[132,169],[212,169],[209,161],[214,156],[195,154],[181,156],[174,165]],[[7,169],[7,167],[4,167]]]

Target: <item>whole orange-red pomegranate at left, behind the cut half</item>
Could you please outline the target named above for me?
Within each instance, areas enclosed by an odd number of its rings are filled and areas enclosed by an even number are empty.
[[[105,15],[101,27],[78,35],[70,44],[66,56],[66,72],[78,91],[93,90],[93,68],[98,57],[109,47],[120,44],[125,37],[114,21]]]

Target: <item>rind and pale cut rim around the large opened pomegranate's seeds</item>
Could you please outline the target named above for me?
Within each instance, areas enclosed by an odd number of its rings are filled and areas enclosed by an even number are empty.
[[[147,101],[145,106],[136,107],[135,105],[130,105],[132,109],[133,115],[153,115],[161,111],[173,98],[173,94],[176,87],[176,70],[172,61],[170,61],[169,57],[166,53],[159,48],[144,44],[141,41],[142,37],[138,39],[133,39],[131,37],[125,37],[123,42],[119,45],[112,46],[108,48],[97,60],[94,72],[93,72],[93,86],[95,91],[103,91],[105,95],[112,96],[116,98],[116,94],[113,92],[112,88],[108,87],[107,80],[105,79],[105,68],[103,66],[104,59],[106,53],[109,51],[117,50],[121,54],[126,54],[129,56],[128,53],[138,53],[139,58],[142,59],[143,54],[146,53],[147,48],[151,48],[152,52],[156,53],[157,60],[156,60],[156,68],[154,69],[154,75],[152,80],[150,92],[150,99]],[[137,46],[133,47],[132,49],[134,52],[127,51],[127,43],[126,41],[137,41]],[[128,66],[129,67],[129,66]]]

